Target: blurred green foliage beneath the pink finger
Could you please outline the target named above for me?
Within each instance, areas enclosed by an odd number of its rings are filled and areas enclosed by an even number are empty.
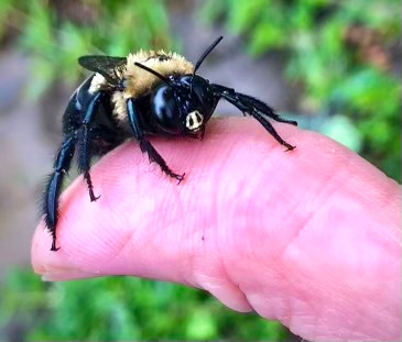
[[[173,284],[109,277],[46,284],[30,272],[0,286],[0,340],[270,340],[287,331],[240,315],[210,295]]]

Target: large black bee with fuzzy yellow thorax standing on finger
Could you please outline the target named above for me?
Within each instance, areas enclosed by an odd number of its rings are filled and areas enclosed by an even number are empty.
[[[43,212],[53,236],[52,251],[58,250],[58,197],[75,152],[90,201],[99,198],[95,196],[89,174],[93,156],[106,154],[129,137],[134,137],[150,161],[157,163],[165,174],[180,183],[184,174],[174,173],[146,136],[187,135],[203,139],[205,124],[222,98],[245,115],[256,118],[287,151],[294,148],[276,133],[267,118],[295,125],[297,122],[282,119],[271,107],[251,96],[210,84],[196,74],[221,38],[204,52],[195,66],[183,56],[164,51],[140,51],[127,57],[84,56],[78,59],[82,67],[94,74],[68,101],[63,117],[64,141],[45,190]]]

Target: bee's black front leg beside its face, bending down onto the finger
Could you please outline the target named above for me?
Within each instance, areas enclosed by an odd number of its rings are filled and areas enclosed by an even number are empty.
[[[172,178],[177,179],[177,184],[180,184],[184,179],[184,175],[178,175],[172,172],[172,169],[167,166],[166,162],[163,157],[157,153],[157,151],[152,146],[152,144],[144,137],[143,130],[140,124],[139,113],[135,110],[135,103],[133,99],[127,100],[127,111],[129,114],[129,122],[132,129],[133,135],[135,140],[140,143],[140,147],[142,152],[146,152],[150,162],[155,162],[161,169]]]

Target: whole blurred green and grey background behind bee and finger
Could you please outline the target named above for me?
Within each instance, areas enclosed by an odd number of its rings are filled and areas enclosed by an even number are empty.
[[[401,180],[396,0],[0,0],[0,340],[301,341],[207,294],[124,277],[46,284],[30,268],[37,198],[85,54],[167,48]],[[227,103],[217,114],[238,114]]]

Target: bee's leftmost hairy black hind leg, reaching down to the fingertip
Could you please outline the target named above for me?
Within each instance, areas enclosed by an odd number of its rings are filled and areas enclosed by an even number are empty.
[[[58,219],[58,197],[63,185],[63,178],[67,174],[75,152],[77,141],[76,134],[67,136],[63,142],[54,161],[53,173],[51,174],[43,201],[43,212],[45,214],[45,224],[52,233],[53,242],[51,251],[57,251],[56,247],[56,224]]]

